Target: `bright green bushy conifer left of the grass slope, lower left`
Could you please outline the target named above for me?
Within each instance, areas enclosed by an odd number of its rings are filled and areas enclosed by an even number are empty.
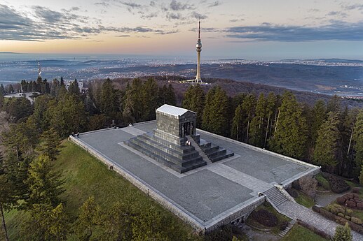
[[[30,195],[27,205],[48,204],[56,207],[60,204],[59,195],[64,191],[60,179],[60,173],[53,170],[53,163],[46,155],[41,154],[30,163],[29,177],[26,183],[29,185]]]

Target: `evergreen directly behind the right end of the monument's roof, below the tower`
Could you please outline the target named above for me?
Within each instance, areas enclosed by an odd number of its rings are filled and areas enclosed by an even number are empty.
[[[197,127],[203,123],[203,110],[205,106],[205,94],[200,85],[191,85],[184,93],[183,108],[197,113]]]

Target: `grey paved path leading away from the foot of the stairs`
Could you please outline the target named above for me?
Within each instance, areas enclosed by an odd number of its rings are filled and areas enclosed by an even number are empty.
[[[293,203],[292,201],[287,201],[281,205],[278,205],[278,210],[291,219],[300,219],[305,221],[306,223],[315,226],[316,228],[324,231],[325,233],[328,233],[331,236],[334,236],[336,226],[338,226],[336,222],[328,220],[313,210],[303,207],[299,203]],[[354,241],[363,240],[363,235],[360,235],[354,231],[352,231],[352,234]]]

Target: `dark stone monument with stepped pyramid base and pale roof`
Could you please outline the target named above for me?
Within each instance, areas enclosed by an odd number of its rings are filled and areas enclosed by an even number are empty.
[[[233,156],[233,152],[200,138],[196,119],[196,112],[163,105],[156,110],[156,129],[125,144],[179,173]]]

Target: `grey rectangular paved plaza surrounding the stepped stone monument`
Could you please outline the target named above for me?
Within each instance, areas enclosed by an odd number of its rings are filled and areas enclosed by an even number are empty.
[[[172,212],[181,212],[179,217],[185,214],[192,220],[189,223],[199,228],[209,228],[232,217],[235,212],[242,212],[245,207],[255,207],[261,203],[259,192],[275,184],[289,184],[318,169],[197,129],[201,138],[225,147],[235,155],[186,173],[177,173],[124,144],[155,128],[156,122],[144,122],[123,129],[81,133],[74,141],[92,150],[95,156],[107,159],[115,168],[121,168],[147,190],[157,193],[165,200],[160,203]]]

